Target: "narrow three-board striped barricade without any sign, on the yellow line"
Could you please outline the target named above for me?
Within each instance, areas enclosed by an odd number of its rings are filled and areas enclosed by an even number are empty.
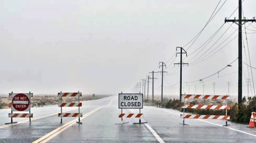
[[[58,97],[61,97],[61,103],[58,104],[58,107],[61,107],[61,113],[58,113],[58,117],[61,117],[61,123],[62,123],[62,117],[78,117],[78,121],[76,123],[82,124],[80,122],[80,117],[83,116],[82,113],[80,113],[80,107],[82,107],[82,103],[80,102],[80,96],[82,96],[82,93],[58,93]],[[62,102],[62,97],[78,97],[78,102]],[[78,113],[62,113],[62,107],[78,107]]]

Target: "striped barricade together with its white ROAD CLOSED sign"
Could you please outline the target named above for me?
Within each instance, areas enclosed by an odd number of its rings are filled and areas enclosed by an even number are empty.
[[[122,123],[116,124],[124,124],[129,122],[123,122],[123,118],[139,118],[139,123],[134,124],[141,124],[141,123],[148,123],[148,122],[141,122],[142,113],[134,114],[129,113],[125,114],[122,112],[122,109],[142,109],[143,108],[143,94],[140,93],[119,93],[119,109],[121,109],[121,114],[118,116],[121,118]]]

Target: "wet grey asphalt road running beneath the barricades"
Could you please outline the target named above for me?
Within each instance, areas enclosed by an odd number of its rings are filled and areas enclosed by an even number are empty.
[[[0,110],[0,116],[8,115],[9,110]],[[141,120],[148,123],[133,124],[139,119],[124,118],[129,123],[116,125],[121,123],[118,96],[84,101],[83,124],[76,123],[77,118],[63,118],[61,124],[58,112],[57,105],[32,108],[36,120],[31,125],[27,118],[15,118],[18,124],[6,126],[3,124],[10,118],[0,117],[0,143],[253,143],[256,139],[256,128],[247,125],[231,123],[223,127],[225,121],[186,119],[189,126],[183,126],[180,112],[157,107],[141,109]],[[139,109],[123,112],[138,113]]]

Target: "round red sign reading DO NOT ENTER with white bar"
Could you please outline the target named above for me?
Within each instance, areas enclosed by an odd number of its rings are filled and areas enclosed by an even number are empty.
[[[18,93],[12,98],[12,107],[17,111],[27,111],[29,104],[29,97],[26,94]]]

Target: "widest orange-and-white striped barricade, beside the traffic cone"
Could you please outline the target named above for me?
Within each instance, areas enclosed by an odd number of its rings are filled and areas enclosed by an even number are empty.
[[[183,118],[183,123],[180,123],[181,125],[189,125],[185,124],[185,118],[186,119],[219,119],[219,120],[226,120],[226,125],[223,126],[229,126],[227,124],[227,120],[230,120],[230,116],[227,115],[227,110],[230,109],[230,105],[227,105],[227,100],[230,99],[229,95],[192,95],[192,94],[183,94],[182,98],[184,98],[184,103],[186,98],[192,98],[192,99],[222,99],[226,100],[226,105],[190,105],[190,104],[184,104],[181,105],[181,108],[183,109],[183,114],[180,114],[180,118]],[[226,115],[185,115],[185,109],[225,109]]]

